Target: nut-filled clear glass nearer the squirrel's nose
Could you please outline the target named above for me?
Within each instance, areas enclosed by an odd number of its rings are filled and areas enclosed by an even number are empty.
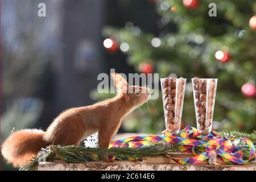
[[[180,130],[186,81],[182,77],[160,78],[166,129],[171,133]]]

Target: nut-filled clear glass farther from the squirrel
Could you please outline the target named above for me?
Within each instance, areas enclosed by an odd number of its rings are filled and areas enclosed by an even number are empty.
[[[216,78],[192,78],[197,129],[202,137],[212,130],[217,81]]]

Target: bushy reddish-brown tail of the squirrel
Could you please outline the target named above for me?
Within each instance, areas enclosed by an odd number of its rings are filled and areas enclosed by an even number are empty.
[[[42,147],[47,146],[44,135],[44,131],[36,129],[15,131],[2,144],[3,157],[15,167],[26,165]]]

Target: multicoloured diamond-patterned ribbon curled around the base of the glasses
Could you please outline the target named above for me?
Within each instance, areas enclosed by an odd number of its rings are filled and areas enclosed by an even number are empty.
[[[250,158],[243,160],[242,147],[235,146],[234,140],[243,140],[250,151]],[[180,152],[190,152],[193,158],[174,159],[183,165],[198,164],[213,156],[218,156],[227,164],[250,164],[249,160],[255,156],[253,142],[247,138],[222,138],[214,131],[203,138],[194,127],[187,126],[177,134],[165,130],[160,135],[129,137],[110,143],[110,147],[144,147],[154,145],[156,142],[164,144],[178,144]],[[132,160],[132,159],[131,159]],[[213,163],[217,165],[218,163]]]

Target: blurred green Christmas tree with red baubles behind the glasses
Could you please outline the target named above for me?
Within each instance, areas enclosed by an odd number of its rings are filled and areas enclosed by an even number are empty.
[[[110,42],[104,44],[109,59],[123,53],[136,72],[187,78],[183,126],[196,126],[191,78],[218,78],[213,129],[255,130],[256,2],[136,2],[136,7],[134,1],[110,2],[116,14],[133,14],[130,19],[136,23],[112,24],[107,19],[102,36],[105,43]],[[151,25],[154,28],[148,28]],[[126,130],[155,133],[164,129],[162,96],[153,102],[127,118]]]

